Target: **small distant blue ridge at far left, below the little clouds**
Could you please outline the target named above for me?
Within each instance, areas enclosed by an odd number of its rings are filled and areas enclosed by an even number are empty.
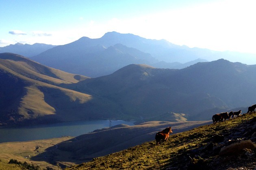
[[[33,57],[53,47],[56,47],[56,45],[48,45],[42,43],[35,43],[33,45],[29,45],[16,43],[15,45],[0,47],[0,53],[15,53],[23,55],[25,57]]]

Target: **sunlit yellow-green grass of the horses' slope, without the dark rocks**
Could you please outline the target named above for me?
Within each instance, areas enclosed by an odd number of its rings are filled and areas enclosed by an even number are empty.
[[[182,169],[191,162],[197,163],[197,161],[201,161],[199,164],[205,166],[204,168],[211,169],[210,163],[212,161],[228,158],[219,158],[218,154],[210,155],[207,159],[201,159],[198,156],[194,158],[196,155],[193,155],[193,151],[199,151],[200,148],[205,148],[216,136],[222,136],[224,133],[225,135],[229,134],[233,128],[239,129],[241,125],[245,124],[246,126],[255,116],[255,113],[252,115],[245,114],[230,121],[217,123],[217,125],[203,125],[187,132],[173,134],[167,143],[163,143],[160,146],[155,146],[155,141],[145,142],[139,146],[131,147],[104,157],[98,157],[90,162],[67,168],[67,170],[166,169],[171,167],[173,169]],[[251,151],[251,153],[253,152]],[[243,160],[243,157],[239,159],[241,162],[246,160],[246,158]],[[228,161],[238,162],[236,159],[228,159]],[[253,160],[251,161],[253,162]],[[245,163],[248,164],[248,160]],[[217,166],[223,165],[214,163],[213,167],[215,166],[217,168]]]

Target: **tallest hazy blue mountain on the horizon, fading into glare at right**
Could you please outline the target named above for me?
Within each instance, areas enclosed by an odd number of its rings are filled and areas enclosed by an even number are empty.
[[[72,43],[40,53],[32,60],[74,74],[100,77],[111,74],[128,64],[147,64],[157,68],[185,68],[197,62],[224,58],[236,61],[256,55],[189,48],[151,40],[133,34],[108,32],[101,38],[82,37]],[[240,57],[241,58],[241,57]]]

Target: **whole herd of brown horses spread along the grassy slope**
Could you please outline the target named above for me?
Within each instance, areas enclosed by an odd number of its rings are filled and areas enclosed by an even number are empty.
[[[255,109],[256,109],[256,104],[249,106],[247,113],[253,113],[253,112],[255,113]],[[219,122],[226,121],[226,119],[230,120],[231,117],[234,118],[234,116],[239,116],[241,113],[242,113],[242,111],[239,110],[237,112],[231,111],[230,113],[223,112],[223,113],[215,114],[215,115],[213,115],[213,124],[216,124],[218,121]],[[156,145],[159,145],[161,140],[167,142],[170,133],[172,133],[171,127],[167,127],[164,130],[157,132],[156,136],[155,136]]]

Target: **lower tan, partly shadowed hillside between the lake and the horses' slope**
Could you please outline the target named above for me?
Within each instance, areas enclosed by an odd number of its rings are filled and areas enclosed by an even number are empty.
[[[22,163],[26,161],[40,168],[65,168],[151,141],[154,134],[166,126],[171,125],[175,133],[178,133],[205,123],[208,121],[151,121],[134,126],[122,124],[103,128],[75,138],[65,136],[26,142],[4,142],[0,143],[0,170],[1,164],[9,166],[7,163],[10,159],[17,159]]]

